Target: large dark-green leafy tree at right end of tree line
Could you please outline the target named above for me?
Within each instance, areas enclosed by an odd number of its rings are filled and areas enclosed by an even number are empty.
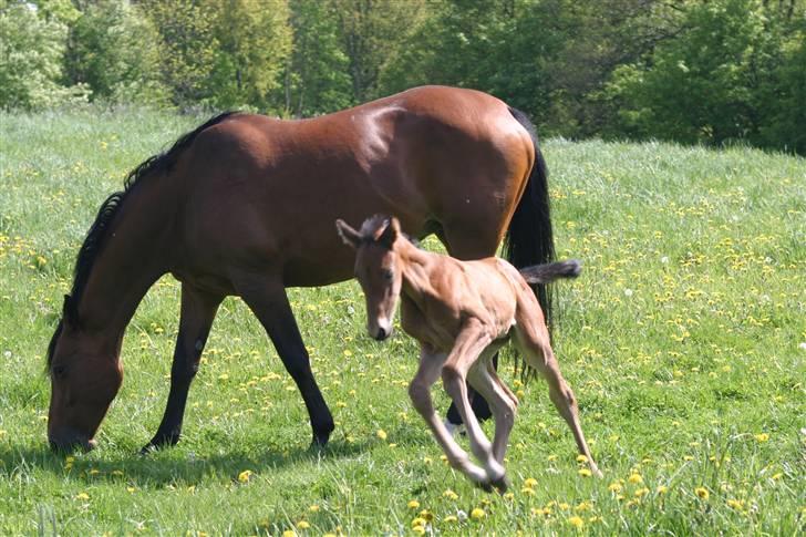
[[[782,49],[787,42],[782,24],[755,0],[690,6],[681,34],[661,43],[645,61],[614,70],[609,91],[621,104],[624,132],[684,143],[746,140],[775,145],[768,143],[773,134],[766,125],[783,110],[767,99],[771,91],[783,90],[777,78],[804,70],[803,64],[792,71],[784,66],[788,58]],[[793,60],[796,54],[793,50]],[[803,93],[789,93],[797,92],[797,78],[782,95],[788,96],[783,103],[788,113],[797,109],[793,100],[803,102]],[[761,134],[765,128],[766,140]]]

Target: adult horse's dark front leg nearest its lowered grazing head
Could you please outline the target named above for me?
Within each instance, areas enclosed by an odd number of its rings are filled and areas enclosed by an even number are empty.
[[[221,297],[206,295],[189,285],[182,285],[179,333],[176,337],[174,363],[170,368],[168,402],[163,421],[152,441],[143,447],[143,453],[179,442],[187,392],[198,371],[202,351],[220,303]]]

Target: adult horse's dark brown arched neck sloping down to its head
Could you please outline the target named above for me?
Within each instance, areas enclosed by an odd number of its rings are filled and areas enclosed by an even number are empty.
[[[80,299],[83,330],[120,341],[151,286],[169,269],[176,210],[165,179],[151,177],[126,193]]]

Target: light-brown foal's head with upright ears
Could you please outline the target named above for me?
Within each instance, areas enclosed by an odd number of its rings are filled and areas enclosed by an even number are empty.
[[[392,334],[394,308],[400,297],[403,272],[395,244],[401,237],[397,218],[375,215],[361,230],[335,220],[341,239],[355,249],[355,277],[366,298],[366,330],[382,341]]]

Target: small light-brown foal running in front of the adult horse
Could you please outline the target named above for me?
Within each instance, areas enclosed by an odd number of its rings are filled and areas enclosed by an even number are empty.
[[[394,217],[372,217],[361,231],[343,220],[335,224],[342,240],[356,250],[355,276],[366,299],[371,337],[383,340],[391,334],[395,306],[401,300],[403,330],[420,342],[420,369],[409,385],[409,395],[453,467],[487,490],[507,488],[503,464],[518,400],[496,374],[492,358],[512,339],[526,365],[548,382],[551,402],[574,432],[579,453],[587,457],[591,472],[601,476],[582,434],[574,392],[551,351],[540,304],[528,285],[576,277],[577,261],[518,271],[496,257],[459,261],[421,250],[403,236]],[[440,374],[467,427],[471,451],[480,467],[471,462],[434,412],[430,390]],[[467,381],[492,406],[492,445],[471,407]]]

